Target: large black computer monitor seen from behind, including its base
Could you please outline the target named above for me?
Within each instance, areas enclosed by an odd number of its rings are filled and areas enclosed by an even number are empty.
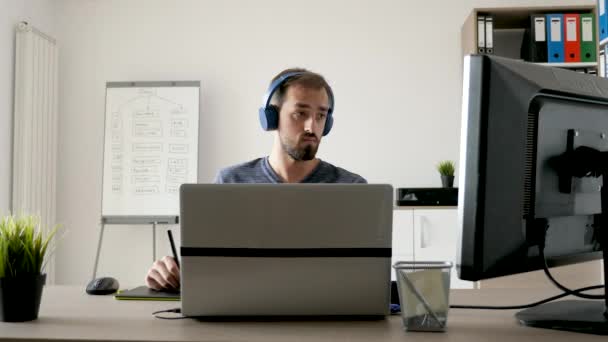
[[[603,257],[606,283],[608,80],[466,56],[460,148],[461,279],[543,269],[543,259],[556,266]],[[606,304],[563,301],[516,316],[526,325],[608,334]]]

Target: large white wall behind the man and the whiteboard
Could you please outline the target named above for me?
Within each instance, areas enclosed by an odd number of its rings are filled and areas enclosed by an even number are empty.
[[[57,282],[83,284],[95,257],[105,82],[200,80],[199,179],[210,182],[220,167],[269,152],[272,134],[257,122],[262,94],[283,68],[307,67],[325,75],[336,96],[322,159],[373,183],[438,186],[437,161],[458,159],[460,27],[470,10],[569,3],[57,1],[58,218],[69,229]],[[150,236],[142,227],[110,228],[100,273],[141,284]]]

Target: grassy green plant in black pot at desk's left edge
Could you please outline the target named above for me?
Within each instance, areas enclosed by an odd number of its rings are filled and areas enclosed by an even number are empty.
[[[46,281],[44,258],[56,231],[57,226],[45,232],[36,216],[0,218],[0,321],[38,318]]]

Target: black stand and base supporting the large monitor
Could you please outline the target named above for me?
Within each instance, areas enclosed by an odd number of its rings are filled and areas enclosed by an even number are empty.
[[[602,158],[603,159],[603,158]],[[564,300],[520,311],[515,317],[523,325],[608,335],[608,168],[602,167],[600,246],[604,259],[604,300]]]

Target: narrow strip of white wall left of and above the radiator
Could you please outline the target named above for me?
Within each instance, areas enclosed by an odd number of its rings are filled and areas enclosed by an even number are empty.
[[[11,208],[15,25],[27,21],[52,35],[52,0],[0,0],[0,214]]]

